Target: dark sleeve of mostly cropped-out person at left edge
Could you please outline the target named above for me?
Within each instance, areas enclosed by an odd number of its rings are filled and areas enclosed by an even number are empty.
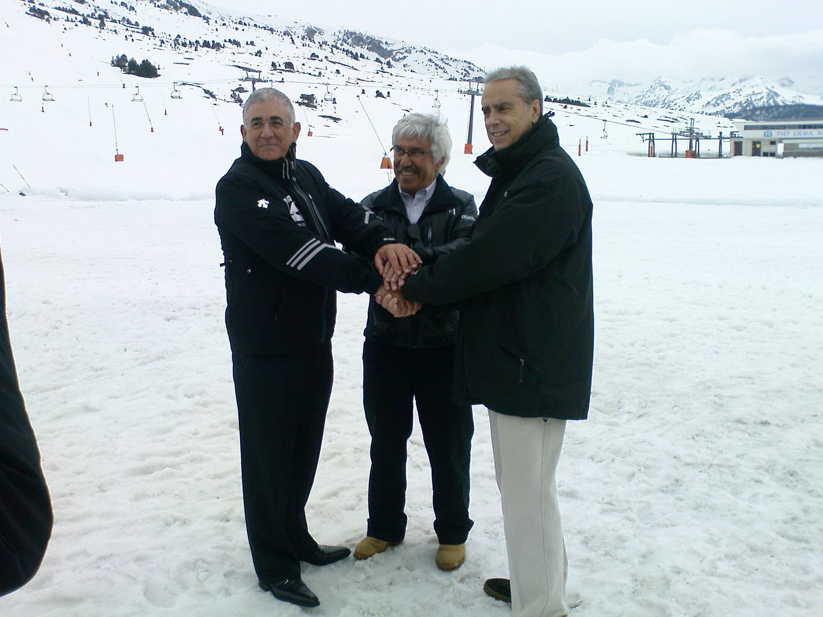
[[[51,536],[49,489],[17,382],[0,260],[0,596],[30,580]]]

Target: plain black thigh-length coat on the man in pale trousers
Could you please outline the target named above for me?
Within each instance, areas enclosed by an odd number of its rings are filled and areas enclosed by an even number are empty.
[[[507,415],[583,420],[592,382],[592,201],[546,117],[477,166],[491,185],[467,244],[403,295],[460,304],[454,392]]]

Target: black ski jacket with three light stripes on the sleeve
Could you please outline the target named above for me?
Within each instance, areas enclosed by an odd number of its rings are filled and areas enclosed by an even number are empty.
[[[370,259],[395,242],[364,207],[328,186],[319,170],[295,159],[267,161],[244,143],[217,183],[214,219],[226,257],[226,328],[231,350],[277,355],[332,337],[335,290],[377,290]]]

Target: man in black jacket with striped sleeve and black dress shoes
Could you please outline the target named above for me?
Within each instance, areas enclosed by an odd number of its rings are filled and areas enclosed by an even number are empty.
[[[328,565],[351,552],[319,545],[305,517],[332,392],[335,292],[374,293],[389,264],[399,278],[420,260],[296,158],[300,123],[281,91],[249,95],[240,133],[240,157],[217,183],[214,218],[226,257],[246,531],[260,587],[317,606],[300,562]]]

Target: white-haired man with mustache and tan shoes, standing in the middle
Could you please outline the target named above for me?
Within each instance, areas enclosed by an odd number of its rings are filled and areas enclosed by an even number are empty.
[[[470,193],[443,178],[452,140],[444,119],[408,114],[392,133],[395,179],[370,194],[363,206],[374,211],[398,241],[412,247],[424,264],[435,263],[465,243],[477,218]],[[412,434],[412,405],[431,465],[435,564],[453,570],[463,564],[468,516],[472,407],[452,402],[458,309],[425,307],[396,319],[371,299],[363,346],[363,406],[371,434],[369,520],[356,559],[369,559],[398,545],[406,534],[406,457]]]

